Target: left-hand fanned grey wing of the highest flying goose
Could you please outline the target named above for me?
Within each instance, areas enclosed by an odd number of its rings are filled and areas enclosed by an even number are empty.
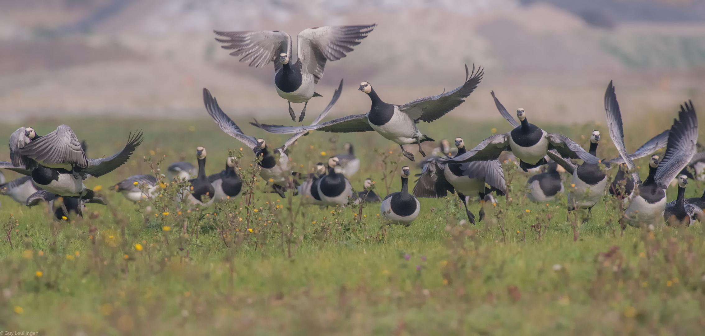
[[[214,30],[213,32],[223,37],[216,37],[216,41],[225,44],[221,48],[232,49],[233,52],[230,54],[242,56],[240,61],[247,62],[248,66],[259,68],[266,66],[269,62],[274,62],[274,70],[278,71],[281,68],[279,54],[286,53],[290,58],[293,58],[291,37],[281,30],[257,32],[219,32]]]

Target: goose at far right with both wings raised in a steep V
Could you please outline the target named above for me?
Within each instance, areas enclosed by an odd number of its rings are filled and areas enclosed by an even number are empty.
[[[692,102],[686,102],[680,106],[678,120],[674,119],[668,133],[668,145],[663,160],[658,163],[653,177],[642,183],[639,179],[639,172],[636,165],[627,155],[624,146],[624,133],[619,122],[619,104],[612,82],[605,92],[605,111],[607,114],[607,124],[610,129],[610,137],[620,155],[625,159],[627,167],[633,172],[632,179],[638,188],[635,196],[632,196],[629,207],[625,212],[628,224],[639,227],[642,224],[651,224],[656,221],[666,207],[666,188],[670,181],[678,175],[692,159],[696,151],[698,138],[697,114]]]

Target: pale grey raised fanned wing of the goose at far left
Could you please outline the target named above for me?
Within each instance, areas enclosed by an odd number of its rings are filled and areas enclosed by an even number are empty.
[[[88,160],[81,142],[68,125],[60,125],[53,132],[27,143],[19,149],[20,155],[44,164],[75,164],[87,167]]]

